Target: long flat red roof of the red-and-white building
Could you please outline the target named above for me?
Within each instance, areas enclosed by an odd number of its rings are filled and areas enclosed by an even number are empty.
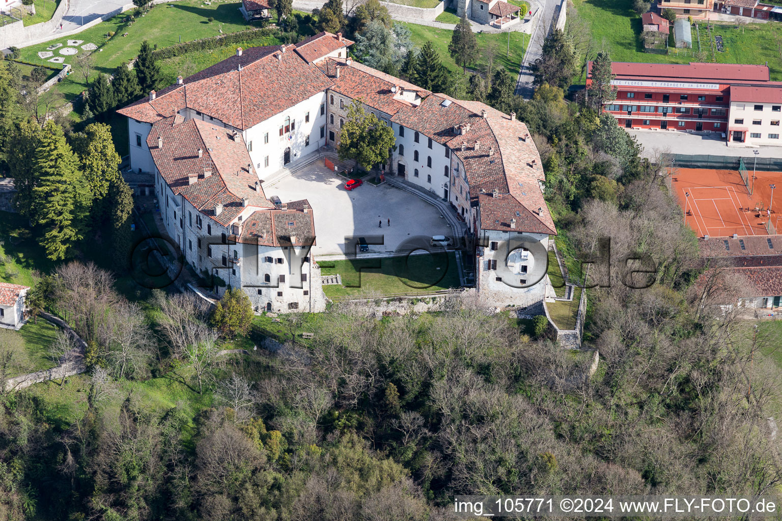
[[[588,67],[591,71],[592,62]],[[611,69],[617,78],[633,80],[713,80],[718,84],[769,80],[769,68],[764,65],[613,62]]]

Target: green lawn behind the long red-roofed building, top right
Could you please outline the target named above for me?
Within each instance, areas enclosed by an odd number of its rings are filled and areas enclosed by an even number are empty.
[[[640,42],[640,16],[633,12],[631,0],[573,0],[579,16],[591,29],[598,44],[604,44],[615,62],[688,63],[696,59],[698,37],[693,30],[693,48],[684,52],[673,50],[669,55],[644,52]],[[772,80],[782,79],[782,64],[777,52],[777,38],[782,37],[778,23],[750,23],[742,30],[734,25],[716,24],[712,37],[719,34],[725,42],[725,52],[715,52],[713,59],[719,63],[749,63],[762,65],[769,62]],[[701,48],[705,60],[712,60],[705,23],[698,27]],[[583,78],[582,78],[583,81]]]

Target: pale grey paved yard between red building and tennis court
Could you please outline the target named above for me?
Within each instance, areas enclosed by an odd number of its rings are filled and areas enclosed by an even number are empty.
[[[782,147],[734,147],[726,144],[722,134],[687,134],[661,130],[628,130],[643,145],[641,157],[654,159],[655,152],[687,155],[730,155],[732,157],[752,157],[752,150],[759,150],[758,157],[782,158]]]

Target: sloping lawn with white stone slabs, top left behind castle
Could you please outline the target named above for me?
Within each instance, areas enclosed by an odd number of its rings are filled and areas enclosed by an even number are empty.
[[[111,20],[99,23],[77,35],[84,44],[92,43],[98,46],[94,52],[95,70],[91,78],[98,73],[112,73],[121,62],[135,58],[142,41],[148,40],[157,48],[170,47],[181,41],[192,41],[200,38],[217,36],[222,28],[224,33],[234,33],[246,30],[250,26],[239,13],[240,2],[212,2],[211,5],[203,5],[194,0],[180,0],[173,4],[156,5],[145,16],[137,18],[132,23],[125,23],[127,13],[114,16]],[[208,18],[214,18],[208,23]],[[113,37],[107,37],[113,32]],[[127,33],[127,36],[123,34]],[[46,59],[38,57],[38,52],[45,51],[49,45],[66,43],[62,40],[47,41],[38,45],[30,45],[20,50],[20,58],[30,63],[48,63]],[[82,45],[84,45],[82,44]],[[79,53],[81,54],[81,48]],[[55,55],[57,51],[54,51]],[[74,65],[77,55],[65,56],[65,62]],[[210,64],[211,65],[211,64]],[[176,75],[174,75],[176,77]],[[75,71],[58,84],[59,91],[63,92],[67,101],[73,101],[76,95],[84,91],[86,84],[84,77]]]

